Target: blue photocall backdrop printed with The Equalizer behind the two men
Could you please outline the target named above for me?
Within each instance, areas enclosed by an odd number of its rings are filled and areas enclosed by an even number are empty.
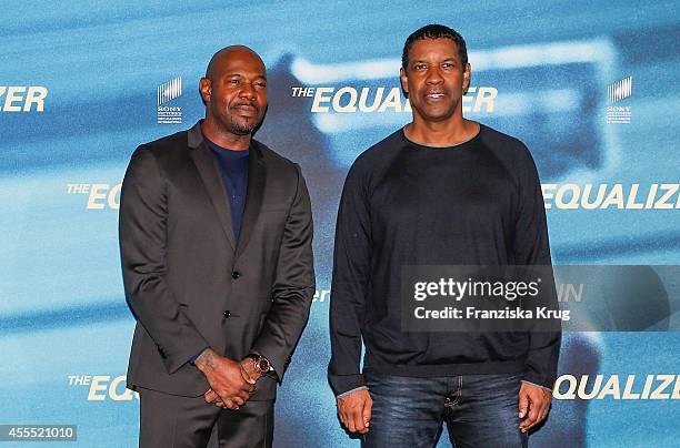
[[[679,264],[679,18],[677,1],[4,2],[0,424],[77,425],[66,446],[137,444],[120,182],[138,144],[202,116],[199,79],[228,44],[262,55],[270,108],[257,138],[301,164],[314,211],[318,291],[276,446],[359,445],[326,375],[336,208],[356,156],[410,120],[398,70],[423,24],[468,42],[466,115],[532,151],[556,264]],[[664,319],[640,313],[627,326],[654,332],[567,333],[532,446],[678,446],[680,334],[663,332],[678,328],[678,298],[627,293],[640,309],[667,301]]]

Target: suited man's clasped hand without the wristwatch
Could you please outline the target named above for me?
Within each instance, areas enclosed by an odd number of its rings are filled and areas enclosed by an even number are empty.
[[[241,365],[218,355],[212,348],[206,348],[193,364],[206,375],[210,385],[210,389],[204,394],[208,403],[216,404],[219,398],[224,407],[238,409],[254,391],[254,380],[244,374]]]

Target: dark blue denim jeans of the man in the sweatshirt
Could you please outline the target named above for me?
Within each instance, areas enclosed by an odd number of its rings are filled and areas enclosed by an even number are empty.
[[[443,421],[456,448],[528,446],[520,431],[521,374],[413,378],[364,371],[373,410],[363,446],[434,447]]]

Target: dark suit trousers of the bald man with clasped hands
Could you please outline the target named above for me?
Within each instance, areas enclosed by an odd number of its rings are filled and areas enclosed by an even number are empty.
[[[180,397],[138,388],[140,448],[270,448],[273,400],[247,401],[221,409],[200,397]],[[212,436],[212,437],[211,437]]]

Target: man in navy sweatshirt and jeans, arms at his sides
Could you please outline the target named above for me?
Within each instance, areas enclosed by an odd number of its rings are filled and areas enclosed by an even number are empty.
[[[401,68],[413,120],[362,153],[344,183],[329,378],[340,420],[370,447],[434,446],[443,421],[456,446],[527,446],[550,408],[559,330],[401,326],[403,266],[551,264],[531,154],[462,116],[470,70],[458,32],[413,32]]]

